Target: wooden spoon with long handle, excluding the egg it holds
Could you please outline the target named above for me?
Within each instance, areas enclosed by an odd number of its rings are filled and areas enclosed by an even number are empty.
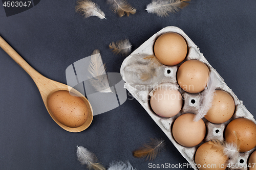
[[[13,48],[1,36],[0,36],[0,46],[34,80],[34,82],[35,82],[36,86],[38,87],[39,92],[42,96],[42,101],[44,101],[44,103],[45,103],[47,111],[49,112],[49,114],[51,115],[53,120],[61,128],[65,129],[69,132],[81,132],[81,131],[87,129],[91,125],[92,120],[93,120],[92,106],[89,103],[89,101],[80,92],[78,92],[77,90],[75,90],[74,88],[72,88],[72,87],[70,87],[66,84],[62,84],[62,83],[53,81],[53,80],[48,79],[48,78],[42,76],[41,74],[39,74],[39,72],[37,72],[22,57],[20,57],[19,54],[15,50],[13,50]],[[50,110],[50,108],[48,107],[48,104],[47,104],[49,96],[53,92],[58,91],[58,90],[71,91],[72,93],[75,93],[76,95],[80,96],[80,98],[84,101],[84,103],[86,104],[86,106],[88,108],[88,118],[86,120],[86,123],[84,123],[82,126],[77,127],[77,128],[70,128],[70,127],[62,125],[61,123],[58,122],[58,120],[54,117],[54,115],[52,114],[52,112],[51,112],[51,110]]]

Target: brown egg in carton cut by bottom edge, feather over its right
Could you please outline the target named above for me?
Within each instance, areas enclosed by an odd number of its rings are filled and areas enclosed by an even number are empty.
[[[222,151],[212,149],[208,142],[203,143],[196,152],[195,162],[199,170],[225,169],[228,157]]]

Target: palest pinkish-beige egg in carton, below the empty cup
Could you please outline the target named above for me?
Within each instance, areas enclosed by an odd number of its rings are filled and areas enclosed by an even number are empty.
[[[178,90],[156,90],[150,100],[152,110],[162,117],[172,117],[182,108],[182,96]]]

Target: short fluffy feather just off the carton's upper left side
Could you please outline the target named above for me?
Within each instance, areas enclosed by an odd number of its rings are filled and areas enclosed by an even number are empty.
[[[112,51],[114,54],[121,54],[121,55],[128,55],[132,50],[132,45],[129,42],[128,39],[120,40],[117,43],[112,42],[109,45],[110,49],[113,49]]]

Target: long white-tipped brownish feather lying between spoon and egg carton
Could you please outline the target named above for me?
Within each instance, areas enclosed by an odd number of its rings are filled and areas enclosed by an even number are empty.
[[[96,91],[104,93],[112,92],[108,76],[105,72],[105,64],[102,63],[99,50],[93,51],[88,71],[92,75],[92,78],[89,79],[89,81]]]

